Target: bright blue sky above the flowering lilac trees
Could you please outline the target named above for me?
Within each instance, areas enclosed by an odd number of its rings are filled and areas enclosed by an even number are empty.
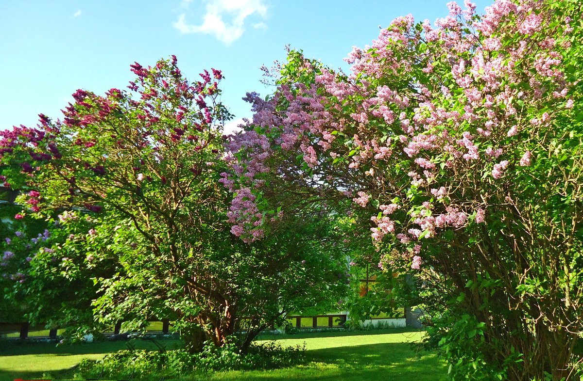
[[[153,65],[175,54],[189,79],[223,70],[223,103],[237,119],[251,115],[247,91],[263,64],[285,59],[285,45],[326,65],[343,62],[397,16],[448,14],[442,0],[27,0],[0,3],[0,129],[56,119],[78,88],[103,94],[127,86],[137,61]],[[459,1],[460,3],[463,0]],[[490,0],[475,0],[481,13]]]

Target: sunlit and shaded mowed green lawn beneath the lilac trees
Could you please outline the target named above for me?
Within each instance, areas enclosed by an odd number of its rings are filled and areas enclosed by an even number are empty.
[[[295,335],[263,335],[259,341],[278,340],[282,346],[307,348],[305,365],[269,371],[229,371],[194,374],[181,380],[395,380],[435,381],[447,373],[436,354],[420,350],[415,344],[422,332],[374,330],[367,332],[326,332]],[[160,341],[167,348],[177,341]],[[155,346],[150,341],[132,340],[136,348]],[[0,381],[15,378],[72,378],[73,366],[82,358],[98,359],[108,352],[127,348],[124,342],[104,342],[55,347],[50,343],[0,345]]]

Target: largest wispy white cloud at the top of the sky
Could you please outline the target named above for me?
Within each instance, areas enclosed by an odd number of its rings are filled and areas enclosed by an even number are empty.
[[[184,1],[184,0],[183,0]],[[245,31],[245,19],[248,16],[257,15],[266,17],[267,6],[263,0],[205,0],[206,13],[202,18],[202,24],[194,25],[186,22],[186,14],[178,16],[178,21],[173,25],[181,33],[205,33],[212,34],[218,40],[229,45],[243,35]],[[253,27],[265,26],[264,23],[254,24]]]

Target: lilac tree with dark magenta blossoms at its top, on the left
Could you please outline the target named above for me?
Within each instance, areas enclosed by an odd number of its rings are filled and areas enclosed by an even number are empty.
[[[175,56],[131,67],[131,92],[78,90],[62,122],[40,115],[37,128],[2,133],[4,186],[22,190],[16,218],[45,218],[52,234],[3,258],[12,290],[30,302],[49,292],[48,279],[83,284],[98,326],[168,318],[193,351],[205,340],[223,346],[242,328],[246,348],[305,302],[336,302],[339,254],[315,244],[333,234],[328,227],[289,219],[289,233],[255,245],[229,232],[230,195],[217,181],[231,117],[217,102],[222,73],[190,83]]]

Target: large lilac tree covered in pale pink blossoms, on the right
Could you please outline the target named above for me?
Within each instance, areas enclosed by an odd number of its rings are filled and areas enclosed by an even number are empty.
[[[417,302],[453,378],[572,379],[581,5],[465,6],[435,26],[396,19],[353,49],[349,75],[290,52],[275,94],[248,95],[255,115],[230,145],[224,181],[244,195],[233,232],[261,237],[278,205],[347,212],[354,239],[375,245],[364,258],[423,279]]]

